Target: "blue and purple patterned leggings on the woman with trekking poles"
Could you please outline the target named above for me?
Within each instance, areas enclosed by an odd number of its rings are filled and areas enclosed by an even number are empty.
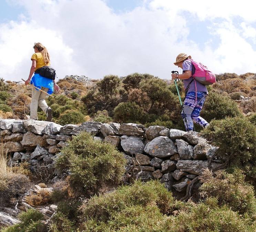
[[[197,101],[196,101],[196,92],[188,92],[184,104],[183,111],[181,113],[182,119],[185,124],[186,131],[192,131],[195,122],[196,124],[203,126],[204,128],[209,124],[202,117],[200,117],[200,112],[203,108],[203,104],[206,99],[206,92],[197,92]]]

